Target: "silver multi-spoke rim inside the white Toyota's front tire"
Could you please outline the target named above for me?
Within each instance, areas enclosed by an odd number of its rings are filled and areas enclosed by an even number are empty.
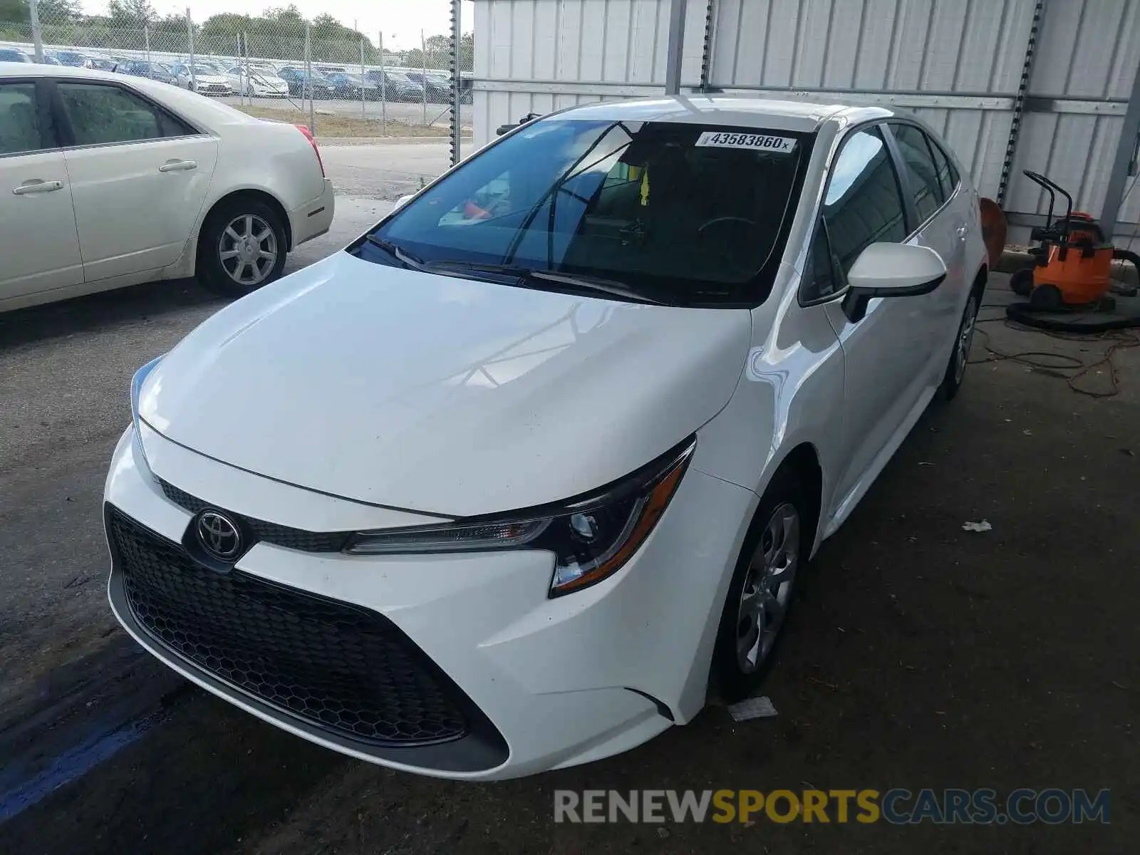
[[[799,512],[784,503],[772,512],[744,577],[736,611],[736,663],[754,674],[775,644],[799,567]]]

